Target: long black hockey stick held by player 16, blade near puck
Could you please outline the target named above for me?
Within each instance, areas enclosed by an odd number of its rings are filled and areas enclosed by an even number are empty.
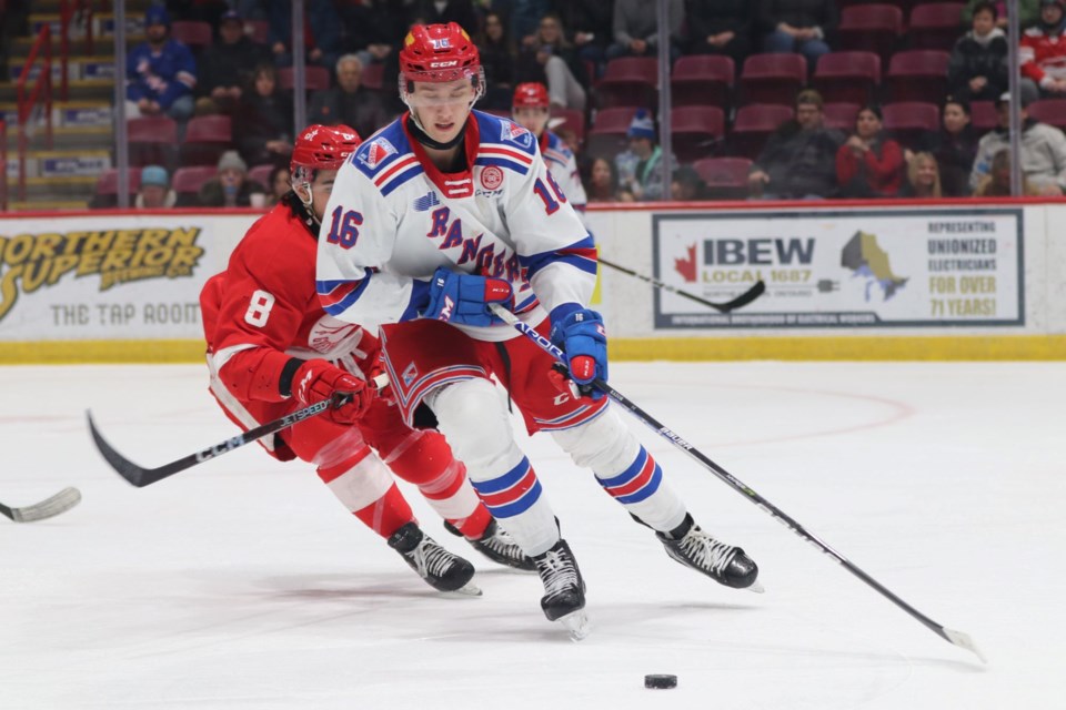
[[[563,352],[559,349],[555,345],[553,345],[552,342],[549,341],[546,337],[537,333],[536,329],[534,329],[530,325],[526,325],[525,323],[520,321],[513,313],[511,313],[506,308],[501,307],[497,304],[491,304],[490,307],[492,308],[492,312],[495,313],[497,316],[500,316],[504,322],[506,322],[509,325],[514,326],[515,329],[517,329],[520,333],[522,333],[523,335],[529,337],[531,341],[536,343],[541,347],[541,349],[552,355],[560,363],[563,362]],[[750,501],[754,503],[756,506],[762,508],[765,513],[770,514],[772,518],[776,519],[778,523],[781,523],[786,528],[788,528],[790,530],[792,530],[793,532],[802,537],[804,540],[806,540],[807,542],[818,548],[822,552],[833,558],[838,564],[843,565],[844,568],[847,569],[847,571],[852,572],[853,575],[858,577],[861,580],[866,582],[868,586],[873,587],[874,590],[876,590],[883,597],[885,597],[886,599],[892,601],[894,605],[896,605],[897,607],[899,607],[901,609],[909,613],[912,617],[921,621],[931,631],[939,636],[942,639],[944,639],[948,643],[954,643],[959,648],[965,648],[968,651],[973,651],[977,656],[977,658],[982,660],[982,662],[987,662],[985,660],[984,655],[974,645],[974,641],[969,637],[969,635],[964,633],[962,631],[953,631],[952,629],[941,626],[939,623],[928,618],[927,616],[925,616],[924,613],[922,613],[921,611],[918,611],[917,609],[908,605],[906,601],[904,601],[903,599],[894,595],[884,585],[882,585],[876,579],[874,579],[873,577],[864,572],[862,569],[856,567],[854,564],[852,564],[852,561],[848,560],[846,557],[844,557],[843,555],[837,552],[835,549],[829,547],[828,544],[822,541],[814,534],[808,532],[802,525],[796,523],[792,517],[790,517],[783,510],[781,510],[781,508],[778,508],[777,506],[766,500],[766,498],[763,498],[761,495],[755,493],[747,485],[742,483],[738,478],[733,476],[733,474],[728,473],[727,470],[725,470],[724,468],[715,464],[713,460],[704,456],[692,444],[681,438],[681,436],[678,436],[671,429],[666,428],[666,426],[664,426],[662,423],[656,420],[650,414],[644,412],[644,409],[640,408],[638,406],[630,402],[624,395],[622,395],[622,393],[620,393],[617,389],[615,389],[614,387],[605,383],[603,379],[597,377],[596,379],[593,381],[592,384],[597,389],[600,389],[601,392],[610,396],[612,399],[614,399],[616,403],[619,403],[620,405],[628,409],[630,414],[632,414],[637,419],[640,419],[645,425],[647,425],[648,428],[653,429],[656,434],[662,436],[664,439],[666,439],[667,442],[670,442],[671,444],[673,444],[684,453],[688,454],[688,456],[694,458],[704,468],[708,469],[712,474],[714,474],[715,476],[724,480],[726,484],[728,484],[731,488],[733,488],[734,490],[736,490],[737,493],[746,497]]]

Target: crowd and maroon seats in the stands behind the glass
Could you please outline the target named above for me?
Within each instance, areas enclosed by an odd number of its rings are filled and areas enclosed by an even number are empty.
[[[1002,1],[668,0],[670,184],[660,169],[655,2],[304,6],[309,122],[344,123],[365,138],[399,115],[404,34],[416,22],[454,21],[481,50],[486,93],[476,108],[507,115],[519,83],[547,87],[550,128],[577,155],[590,202],[961,197],[1009,189]],[[1019,11],[1014,110],[1023,119],[1026,190],[1062,195],[1066,0],[1020,0]],[[138,165],[151,163],[140,173],[139,202],[276,199],[300,128],[292,124],[291,32],[282,2],[168,1],[147,10],[145,41],[128,57],[125,113],[173,121],[181,148]],[[211,150],[187,148],[204,142],[209,121],[222,139]],[[203,190],[179,174],[197,170],[205,180],[211,165],[219,174]],[[162,196],[144,193],[160,187]]]

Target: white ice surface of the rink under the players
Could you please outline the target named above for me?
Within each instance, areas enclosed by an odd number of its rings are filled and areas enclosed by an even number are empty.
[[[418,579],[309,466],[257,446],[143,489],[84,425],[158,466],[232,425],[197,366],[0,368],[0,707],[1057,708],[1066,696],[1066,365],[612,364],[612,383],[938,623],[937,638],[633,420],[696,520],[765,595],[671,561],[543,435],[523,446],[589,585],[592,635],[535,576],[481,598]],[[628,418],[628,415],[625,415]],[[646,690],[674,673],[674,690]]]

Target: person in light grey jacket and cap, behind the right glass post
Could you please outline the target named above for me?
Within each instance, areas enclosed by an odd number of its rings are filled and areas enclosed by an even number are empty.
[[[1066,193],[1066,135],[1058,129],[1038,123],[1030,119],[1028,102],[1022,98],[1022,173],[1033,183],[1039,194],[1059,196]],[[1005,93],[996,101],[998,125],[989,131],[977,144],[977,158],[969,175],[969,184],[975,190],[982,179],[993,171],[993,159],[1010,148],[1010,94]]]

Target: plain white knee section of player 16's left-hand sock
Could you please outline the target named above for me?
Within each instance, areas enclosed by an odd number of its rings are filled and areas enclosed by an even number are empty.
[[[510,460],[517,449],[511,419],[499,390],[487,379],[463,379],[442,387],[430,395],[428,404],[441,434],[472,477],[516,463]]]

